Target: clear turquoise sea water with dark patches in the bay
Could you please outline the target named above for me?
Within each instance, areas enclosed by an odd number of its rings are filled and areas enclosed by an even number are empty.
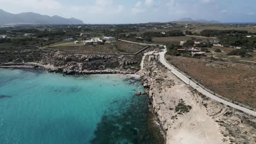
[[[143,90],[120,75],[0,69],[0,143],[152,143]]]

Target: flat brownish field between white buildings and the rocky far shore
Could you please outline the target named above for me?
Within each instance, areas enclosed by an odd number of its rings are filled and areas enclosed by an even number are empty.
[[[115,46],[117,45],[117,47]],[[86,53],[136,53],[142,50],[145,46],[138,44],[125,43],[119,41],[113,44],[104,45],[86,45],[86,46],[54,46],[51,49],[72,51],[72,52],[86,52]]]

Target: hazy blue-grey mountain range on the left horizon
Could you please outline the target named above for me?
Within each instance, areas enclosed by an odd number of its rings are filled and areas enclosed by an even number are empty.
[[[36,13],[11,14],[0,9],[0,25],[28,24],[28,25],[82,25],[83,21],[78,19],[65,19],[60,16],[40,15]]]

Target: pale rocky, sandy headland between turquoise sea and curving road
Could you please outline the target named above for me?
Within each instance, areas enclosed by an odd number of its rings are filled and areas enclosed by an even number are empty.
[[[166,134],[166,143],[256,142],[255,117],[203,97],[160,63],[146,63],[141,73],[150,83],[153,112]],[[189,112],[176,112],[181,99],[192,107]]]

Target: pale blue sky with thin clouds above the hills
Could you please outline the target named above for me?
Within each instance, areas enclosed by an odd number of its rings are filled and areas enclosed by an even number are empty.
[[[256,22],[255,0],[0,0],[9,13],[75,17],[84,23],[145,23],[192,19]]]

